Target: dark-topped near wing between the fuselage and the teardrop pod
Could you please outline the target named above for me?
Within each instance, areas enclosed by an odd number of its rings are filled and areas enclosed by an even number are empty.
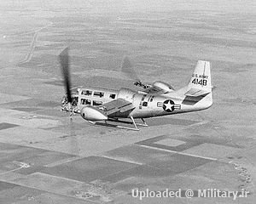
[[[125,111],[131,111],[135,107],[131,102],[125,99],[114,99],[106,104],[100,105],[99,108],[105,111],[108,116],[111,116],[117,112],[123,113]]]

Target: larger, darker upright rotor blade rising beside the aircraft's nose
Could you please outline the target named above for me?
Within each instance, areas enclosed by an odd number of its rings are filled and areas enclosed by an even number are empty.
[[[71,97],[71,84],[70,84],[70,74],[69,74],[69,56],[68,56],[68,48],[65,48],[61,54],[59,55],[60,63],[61,63],[61,71],[64,79],[64,85],[67,93],[67,102],[72,102]]]

